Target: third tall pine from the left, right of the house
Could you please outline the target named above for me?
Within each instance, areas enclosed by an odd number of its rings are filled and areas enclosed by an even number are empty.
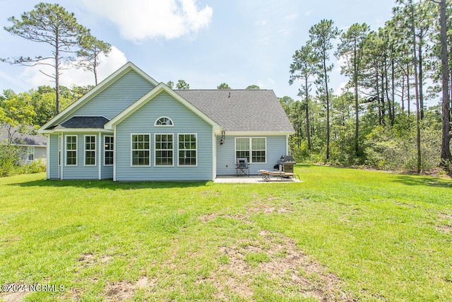
[[[358,77],[364,54],[364,43],[369,34],[369,25],[355,23],[340,36],[338,57],[344,57],[346,64],[341,66],[341,73],[350,76],[355,87],[355,156],[359,156],[359,94]]]

